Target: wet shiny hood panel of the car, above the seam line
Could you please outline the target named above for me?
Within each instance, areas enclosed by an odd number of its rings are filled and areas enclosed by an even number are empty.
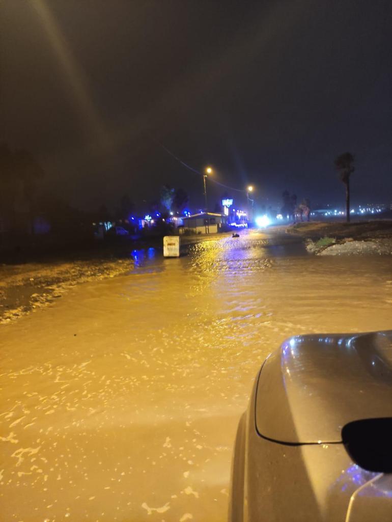
[[[351,421],[392,417],[392,330],[296,336],[266,359],[256,387],[259,435],[338,443]]]

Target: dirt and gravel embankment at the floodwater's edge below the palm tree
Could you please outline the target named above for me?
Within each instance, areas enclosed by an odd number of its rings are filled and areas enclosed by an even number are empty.
[[[391,220],[296,223],[286,233],[303,238],[316,255],[392,254]]]

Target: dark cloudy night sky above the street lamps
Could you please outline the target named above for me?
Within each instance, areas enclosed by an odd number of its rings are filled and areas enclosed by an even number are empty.
[[[271,203],[343,203],[349,150],[354,202],[390,201],[391,27],[390,0],[0,0],[0,139],[90,208],[164,183],[202,204],[156,140]]]

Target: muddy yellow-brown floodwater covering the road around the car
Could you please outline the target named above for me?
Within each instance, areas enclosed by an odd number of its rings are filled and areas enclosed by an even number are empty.
[[[2,522],[223,522],[266,355],[291,335],[392,328],[388,256],[262,234],[132,256],[0,325]]]

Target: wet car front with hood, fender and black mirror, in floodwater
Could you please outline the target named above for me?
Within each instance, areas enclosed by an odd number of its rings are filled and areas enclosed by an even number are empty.
[[[392,330],[295,336],[268,355],[237,430],[230,522],[390,519],[391,360]]]

